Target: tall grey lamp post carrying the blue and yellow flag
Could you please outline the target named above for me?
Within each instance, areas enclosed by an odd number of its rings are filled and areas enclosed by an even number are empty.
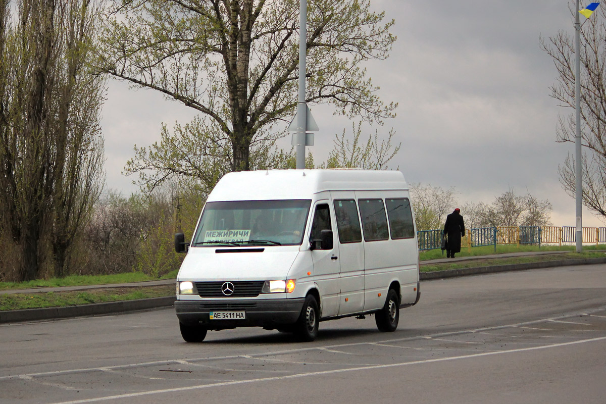
[[[576,0],[579,10],[579,0]],[[574,16],[574,110],[576,113],[576,131],[574,133],[574,180],[576,191],[576,252],[583,251],[583,188],[581,171],[581,23],[579,13]]]

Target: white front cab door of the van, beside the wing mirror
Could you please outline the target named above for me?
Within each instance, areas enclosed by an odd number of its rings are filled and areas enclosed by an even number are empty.
[[[309,240],[319,240],[322,230],[333,230],[334,222],[330,200],[319,200],[313,206]],[[334,234],[333,234],[334,237]],[[333,243],[332,250],[316,248],[311,253],[316,284],[321,293],[322,317],[336,316],[339,313],[339,245]]]

